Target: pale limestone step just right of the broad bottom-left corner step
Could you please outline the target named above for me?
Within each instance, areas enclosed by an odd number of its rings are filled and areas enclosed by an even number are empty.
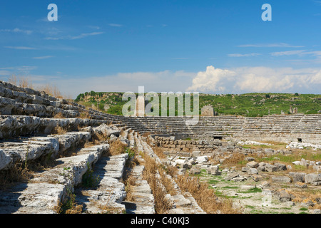
[[[77,204],[83,204],[86,213],[122,213],[126,210],[121,204],[126,197],[125,185],[120,182],[128,154],[101,157],[93,168],[98,177],[98,187],[78,188],[75,191]]]

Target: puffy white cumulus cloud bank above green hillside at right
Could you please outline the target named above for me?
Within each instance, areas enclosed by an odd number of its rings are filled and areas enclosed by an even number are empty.
[[[320,86],[321,70],[315,68],[219,69],[208,66],[206,71],[198,72],[188,90],[201,93],[307,93],[320,92]]]

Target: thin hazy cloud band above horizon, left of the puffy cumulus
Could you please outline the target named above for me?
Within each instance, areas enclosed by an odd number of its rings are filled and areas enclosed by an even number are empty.
[[[1,69],[1,68],[0,68]],[[59,73],[58,76],[37,76],[29,73],[34,86],[50,83],[56,85],[61,93],[73,98],[79,93],[96,92],[138,92],[138,86],[145,86],[145,92],[184,92],[192,82],[195,73],[185,71],[116,73],[101,77],[79,77]]]

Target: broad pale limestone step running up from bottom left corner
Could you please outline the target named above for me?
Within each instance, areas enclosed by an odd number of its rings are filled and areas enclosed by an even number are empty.
[[[34,174],[28,183],[21,183],[10,190],[0,192],[0,213],[5,214],[54,214],[59,202],[63,202],[83,174],[91,167],[109,145],[96,145],[79,152],[80,155],[63,157],[58,165]]]

